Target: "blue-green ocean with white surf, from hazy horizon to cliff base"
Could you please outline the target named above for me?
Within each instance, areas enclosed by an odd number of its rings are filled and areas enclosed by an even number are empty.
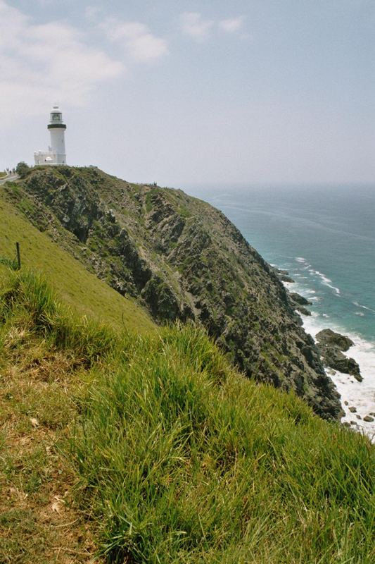
[[[202,185],[188,192],[222,210],[267,262],[290,273],[295,283],[286,286],[312,302],[311,317],[303,316],[308,333],[331,328],[352,338],[345,354],[360,364],[363,381],[327,372],[341,393],[343,422],[374,439],[375,185]]]

